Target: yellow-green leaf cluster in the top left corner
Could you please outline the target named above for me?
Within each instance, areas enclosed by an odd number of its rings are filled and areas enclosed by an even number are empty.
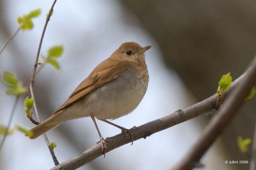
[[[17,22],[20,25],[22,31],[32,29],[33,22],[31,21],[32,18],[38,17],[41,13],[41,10],[34,10],[28,13],[27,15],[23,15],[22,17],[17,18]]]

